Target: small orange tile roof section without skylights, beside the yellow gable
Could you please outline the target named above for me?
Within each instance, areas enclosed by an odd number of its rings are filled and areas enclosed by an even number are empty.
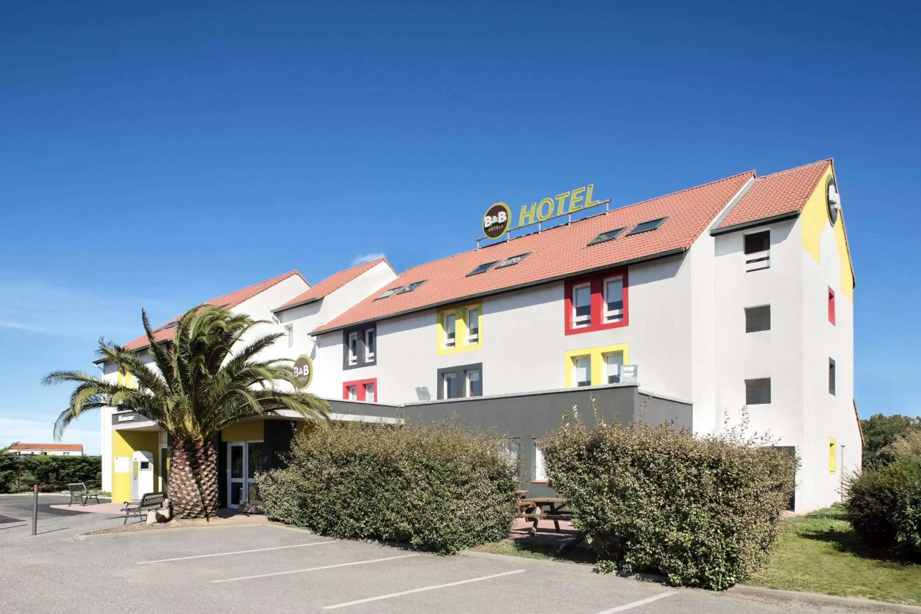
[[[831,159],[820,160],[759,177],[717,228],[738,226],[775,215],[801,213],[830,164]]]

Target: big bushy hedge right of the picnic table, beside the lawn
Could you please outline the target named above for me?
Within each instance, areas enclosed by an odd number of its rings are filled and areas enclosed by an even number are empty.
[[[669,425],[576,420],[542,439],[547,474],[576,513],[601,571],[662,573],[722,590],[757,572],[775,545],[797,461],[743,439]]]

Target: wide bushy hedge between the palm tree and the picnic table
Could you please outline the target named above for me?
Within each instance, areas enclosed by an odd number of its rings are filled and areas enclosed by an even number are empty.
[[[453,424],[345,423],[298,435],[288,467],[257,481],[286,523],[452,554],[507,538],[514,470],[495,437]]]

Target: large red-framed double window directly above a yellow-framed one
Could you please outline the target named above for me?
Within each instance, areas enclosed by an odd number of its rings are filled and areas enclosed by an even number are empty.
[[[627,270],[600,272],[565,281],[565,334],[627,326]]]

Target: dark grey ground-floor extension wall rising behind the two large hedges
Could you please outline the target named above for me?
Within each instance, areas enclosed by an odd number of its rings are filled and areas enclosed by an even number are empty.
[[[589,427],[595,425],[597,411],[606,422],[617,420],[627,425],[636,420],[654,426],[671,422],[675,428],[691,430],[693,410],[691,403],[658,397],[635,385],[430,400],[405,406],[350,400],[330,400],[330,405],[334,413],[395,417],[409,422],[456,419],[464,427],[511,439],[518,444],[522,458],[522,487],[536,496],[553,494],[553,490],[546,483],[532,481],[537,457],[535,440],[559,428],[564,417],[571,419],[574,406]]]

